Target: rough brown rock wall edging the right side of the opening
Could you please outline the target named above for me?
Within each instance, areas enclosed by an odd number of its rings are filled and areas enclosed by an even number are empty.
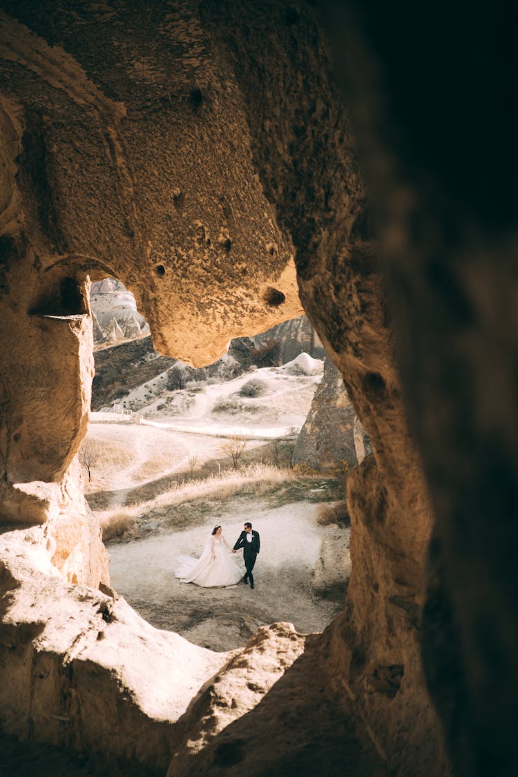
[[[237,5],[225,4],[223,14],[217,4],[204,7],[207,16],[214,11],[214,36],[231,37],[231,61],[247,85],[252,152],[294,243],[301,300],[342,372],[374,451],[349,479],[353,572],[346,610],[323,638],[324,668],[336,696],[353,697],[389,764],[401,773],[447,773],[420,659],[433,517],[408,432],[349,118],[322,67],[325,41],[315,20],[293,5],[290,12],[270,7],[268,17],[250,5],[245,33],[232,26]],[[273,20],[283,33],[265,47]],[[300,35],[313,45],[301,46]]]

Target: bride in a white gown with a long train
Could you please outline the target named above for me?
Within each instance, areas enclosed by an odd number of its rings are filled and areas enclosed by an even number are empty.
[[[214,526],[199,559],[179,556],[180,566],[175,577],[179,577],[182,583],[195,583],[203,588],[235,585],[242,580],[243,573],[231,559],[230,551],[221,526]]]

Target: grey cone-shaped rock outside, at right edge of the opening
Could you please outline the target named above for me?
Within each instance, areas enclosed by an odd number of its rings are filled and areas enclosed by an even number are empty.
[[[326,357],[322,382],[297,437],[294,464],[322,471],[349,462],[349,469],[353,469],[370,451],[369,437],[356,416],[342,375]]]

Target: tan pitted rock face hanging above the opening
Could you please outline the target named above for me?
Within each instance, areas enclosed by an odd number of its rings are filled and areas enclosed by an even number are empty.
[[[110,268],[135,291],[158,349],[200,365],[231,336],[302,311],[235,77],[196,4],[157,12],[50,21],[35,4],[5,17],[2,91],[23,106],[23,228],[42,270],[53,255],[73,274]],[[111,45],[92,57],[105,35]],[[63,47],[49,45],[55,37]],[[23,87],[9,89],[20,68]]]

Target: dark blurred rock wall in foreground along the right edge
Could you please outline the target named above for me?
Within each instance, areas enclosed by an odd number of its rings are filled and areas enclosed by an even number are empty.
[[[436,521],[422,657],[459,775],[511,774],[516,580],[516,46],[509,9],[329,3]]]

